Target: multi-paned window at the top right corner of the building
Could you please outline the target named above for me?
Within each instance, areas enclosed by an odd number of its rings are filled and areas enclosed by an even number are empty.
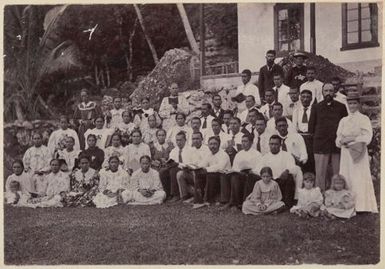
[[[377,4],[342,4],[341,50],[377,46],[379,46]]]

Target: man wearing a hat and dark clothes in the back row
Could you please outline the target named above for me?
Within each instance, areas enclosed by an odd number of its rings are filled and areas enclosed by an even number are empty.
[[[306,54],[296,52],[294,54],[295,66],[289,69],[285,84],[290,88],[299,88],[306,81],[306,66],[304,65]]]

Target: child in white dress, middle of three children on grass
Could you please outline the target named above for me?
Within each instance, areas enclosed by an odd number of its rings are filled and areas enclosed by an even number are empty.
[[[323,196],[318,187],[314,187],[313,173],[303,175],[303,188],[298,190],[298,203],[290,209],[290,213],[300,217],[318,217],[323,203]]]

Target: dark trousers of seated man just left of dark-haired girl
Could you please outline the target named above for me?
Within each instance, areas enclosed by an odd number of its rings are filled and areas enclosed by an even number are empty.
[[[230,205],[241,207],[243,201],[253,191],[255,182],[260,179],[260,176],[250,173],[232,174]]]

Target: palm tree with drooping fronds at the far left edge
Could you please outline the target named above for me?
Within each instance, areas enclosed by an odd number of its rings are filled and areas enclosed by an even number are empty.
[[[56,116],[40,96],[39,85],[47,75],[81,67],[77,46],[72,41],[57,42],[51,37],[57,37],[58,21],[67,6],[49,10],[44,23],[40,9],[13,5],[4,11],[4,113],[8,115],[14,107],[19,121],[27,115],[35,118],[39,109]],[[42,31],[44,34],[39,38]]]

